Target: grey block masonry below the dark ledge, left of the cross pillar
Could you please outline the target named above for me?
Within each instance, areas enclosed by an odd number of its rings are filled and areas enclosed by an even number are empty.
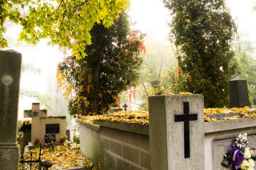
[[[118,169],[149,169],[149,135],[100,128],[100,143],[107,162]]]

